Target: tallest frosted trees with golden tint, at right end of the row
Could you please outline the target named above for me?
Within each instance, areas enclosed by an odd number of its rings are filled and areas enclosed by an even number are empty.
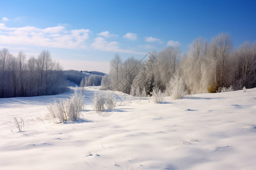
[[[179,63],[179,74],[192,93],[220,92],[222,87],[256,87],[256,42],[233,50],[229,34],[221,33],[208,44],[196,39]]]

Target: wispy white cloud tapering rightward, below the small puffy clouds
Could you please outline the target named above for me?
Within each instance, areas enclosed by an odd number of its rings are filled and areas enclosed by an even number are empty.
[[[129,49],[121,49],[118,46],[117,41],[108,42],[102,37],[96,37],[94,42],[92,43],[92,47],[97,50],[105,51],[105,52],[115,52],[115,53],[130,53],[130,54],[146,54],[141,52],[135,52]]]

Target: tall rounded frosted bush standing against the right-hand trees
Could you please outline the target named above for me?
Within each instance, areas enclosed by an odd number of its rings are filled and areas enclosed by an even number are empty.
[[[186,95],[185,84],[178,75],[174,75],[167,84],[166,94],[174,100],[181,99]]]

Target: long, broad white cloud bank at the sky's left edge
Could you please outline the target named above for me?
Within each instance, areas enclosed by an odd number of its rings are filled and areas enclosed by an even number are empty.
[[[89,39],[89,29],[72,29],[64,26],[37,28],[6,27],[0,23],[0,44],[32,45],[53,48],[85,49],[85,41]]]

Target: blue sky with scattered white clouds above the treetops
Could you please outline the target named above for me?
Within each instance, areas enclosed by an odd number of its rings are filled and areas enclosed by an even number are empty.
[[[230,33],[234,48],[256,40],[256,1],[1,1],[0,49],[27,57],[48,49],[64,69],[108,73],[123,60]]]

